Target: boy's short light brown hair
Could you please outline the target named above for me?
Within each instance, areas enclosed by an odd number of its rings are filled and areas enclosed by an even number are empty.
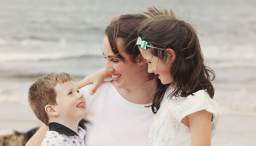
[[[64,84],[71,80],[74,81],[73,77],[68,73],[49,73],[39,78],[29,88],[29,106],[36,117],[45,125],[49,126],[49,118],[44,107],[47,104],[57,105],[57,95],[54,90],[55,85],[58,83]]]

